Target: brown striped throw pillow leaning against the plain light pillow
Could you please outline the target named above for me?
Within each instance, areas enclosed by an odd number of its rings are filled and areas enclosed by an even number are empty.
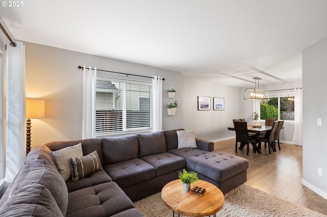
[[[98,170],[102,170],[99,154],[97,151],[82,157],[71,157],[69,158],[69,164],[71,164],[72,168],[73,181],[77,181]]]

